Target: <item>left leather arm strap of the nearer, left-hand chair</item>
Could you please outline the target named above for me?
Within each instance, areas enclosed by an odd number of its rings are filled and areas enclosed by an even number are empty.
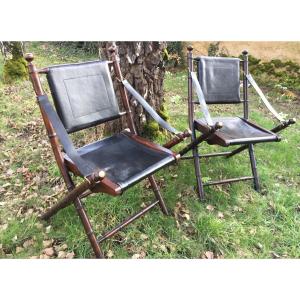
[[[66,154],[72,159],[80,173],[87,177],[95,172],[98,171],[98,167],[95,166],[91,161],[87,161],[82,158],[77,150],[75,149],[72,140],[70,139],[63,123],[61,122],[59,116],[57,115],[56,111],[54,110],[53,106],[51,105],[47,95],[41,95],[37,97],[40,106],[42,107],[43,111],[47,115],[48,119],[50,120],[59,140],[62,144],[64,151]]]

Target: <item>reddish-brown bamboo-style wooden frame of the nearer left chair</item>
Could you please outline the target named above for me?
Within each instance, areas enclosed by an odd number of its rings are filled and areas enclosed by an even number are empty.
[[[110,55],[111,55],[111,61],[109,62],[109,65],[113,68],[114,74],[118,80],[118,85],[119,85],[119,91],[121,95],[121,100],[123,107],[125,109],[125,114],[126,114],[126,120],[127,120],[127,125],[129,127],[129,130],[133,134],[137,134],[137,131],[135,129],[134,121],[132,118],[132,112],[130,110],[130,105],[129,105],[129,100],[127,96],[126,89],[123,84],[123,77],[118,61],[117,54],[115,52],[115,48],[111,47],[109,49]],[[28,70],[29,70],[29,76],[31,79],[31,82],[33,84],[33,89],[35,91],[35,94],[37,97],[45,95],[41,81],[39,78],[39,74],[47,74],[48,70],[47,68],[44,69],[37,69],[35,65],[33,64],[33,55],[31,53],[26,54],[25,59],[28,62]],[[39,102],[38,102],[39,103]],[[123,221],[121,224],[116,226],[114,229],[108,231],[107,233],[96,237],[93,229],[91,222],[89,220],[89,217],[87,215],[86,210],[84,209],[82,199],[87,197],[88,195],[92,193],[107,193],[112,196],[117,196],[121,193],[121,190],[113,186],[113,183],[107,180],[106,174],[104,171],[100,171],[99,173],[96,174],[91,174],[88,177],[85,177],[83,182],[80,183],[79,185],[75,186],[70,173],[75,173],[75,170],[72,170],[72,166],[68,165],[66,160],[64,159],[64,153],[61,150],[60,142],[59,139],[56,135],[56,132],[53,128],[53,125],[51,124],[49,118],[47,117],[47,114],[45,113],[43,107],[40,105],[40,110],[42,114],[42,118],[47,130],[47,134],[51,143],[51,147],[55,156],[55,160],[57,162],[57,165],[59,167],[60,173],[64,179],[64,182],[66,184],[68,194],[57,204],[52,206],[50,209],[48,209],[42,216],[41,218],[43,220],[48,220],[50,217],[52,217],[54,214],[56,214],[58,211],[61,209],[74,204],[76,211],[79,215],[79,218],[81,220],[81,223],[84,227],[85,233],[89,239],[89,242],[91,244],[91,247],[95,253],[96,258],[104,258],[104,254],[100,248],[100,243],[105,241],[106,239],[112,237],[114,234],[116,234],[119,230],[136,220],[137,218],[143,216],[146,212],[148,212],[151,208],[156,206],[157,204],[160,206],[160,209],[165,215],[168,215],[168,209],[164,203],[164,200],[160,194],[158,185],[155,181],[155,178],[153,175],[148,177],[148,180],[151,184],[151,188],[154,192],[155,195],[155,201],[152,202],[150,205],[146,206],[143,208],[141,211],[138,213],[134,214],[133,216],[129,217],[125,221]],[[175,135],[175,137],[167,142],[164,147],[165,148],[171,148],[175,146],[176,144],[180,143],[183,141],[186,137],[190,136],[190,131],[187,130],[185,132],[180,132]],[[138,137],[137,137],[138,138]],[[146,140],[140,141],[144,142],[147,144]],[[180,154],[176,155],[177,159],[180,158]]]

